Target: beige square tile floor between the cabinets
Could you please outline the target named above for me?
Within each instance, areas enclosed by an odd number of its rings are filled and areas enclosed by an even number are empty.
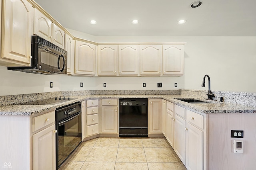
[[[82,142],[59,170],[186,170],[165,138]]]

